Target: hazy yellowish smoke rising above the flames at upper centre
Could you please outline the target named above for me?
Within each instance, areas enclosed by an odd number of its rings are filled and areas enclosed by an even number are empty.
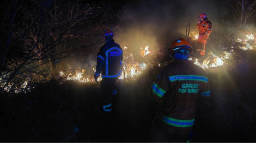
[[[149,49],[159,47],[162,41],[172,43],[175,39],[185,37],[188,19],[191,18],[191,32],[198,34],[196,24],[198,16],[205,12],[215,30],[223,31],[223,23],[230,21],[225,18],[228,8],[222,1],[133,1],[127,2],[130,11],[120,16],[122,23],[112,30],[115,32],[115,42],[120,46],[139,49],[149,46]],[[127,7],[125,7],[127,9]]]

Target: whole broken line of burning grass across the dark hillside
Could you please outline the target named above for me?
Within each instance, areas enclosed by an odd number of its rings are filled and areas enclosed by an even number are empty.
[[[191,33],[191,40],[196,41],[197,35],[194,35],[194,32]],[[237,38],[239,42],[230,44],[229,47],[224,48],[222,55],[216,55],[212,51],[209,51],[208,54],[206,54],[206,59],[203,61],[198,61],[197,58],[191,58],[190,60],[194,61],[194,64],[197,64],[198,66],[202,67],[203,69],[209,69],[209,68],[215,68],[223,65],[227,65],[227,61],[229,58],[233,58],[239,54],[235,53],[234,51],[237,51],[239,49],[242,50],[254,50],[255,48],[255,36],[253,34],[247,34],[243,36],[242,38]],[[147,70],[148,67],[152,67],[154,64],[164,65],[161,60],[157,59],[164,59],[163,54],[164,51],[163,48],[159,48],[157,50],[153,50],[153,48],[150,50],[149,46],[145,46],[145,48],[140,48],[138,52],[135,50],[130,50],[128,47],[124,47],[124,60],[123,60],[123,74],[119,77],[119,79],[124,80],[135,80],[136,76],[140,75],[143,70]],[[153,50],[153,51],[152,51]],[[236,57],[235,57],[236,58]],[[158,62],[158,63],[157,63]],[[92,69],[95,71],[95,69]],[[88,74],[85,69],[73,69],[71,72],[67,72],[70,70],[63,70],[59,72],[59,75],[57,78],[59,80],[74,80],[79,82],[94,82],[94,78],[92,74]],[[31,75],[27,75],[28,78],[24,79],[22,81],[13,81],[13,82],[3,82],[1,81],[1,88],[5,90],[5,92],[9,93],[19,93],[19,92],[29,92],[31,90],[31,87],[28,85],[29,82],[32,82],[31,79],[42,79],[44,77],[32,77]],[[46,77],[45,77],[46,78]],[[48,77],[47,77],[48,78]],[[48,78],[49,80],[50,78]],[[99,77],[98,81],[101,81],[101,76]],[[37,81],[35,81],[37,82]],[[15,83],[15,84],[14,84]]]

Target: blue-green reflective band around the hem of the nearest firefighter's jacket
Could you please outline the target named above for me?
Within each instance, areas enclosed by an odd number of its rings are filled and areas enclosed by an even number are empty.
[[[174,118],[170,118],[162,113],[158,112],[157,117],[162,120],[164,123],[175,126],[175,127],[192,127],[194,125],[194,119],[192,120],[178,120]]]

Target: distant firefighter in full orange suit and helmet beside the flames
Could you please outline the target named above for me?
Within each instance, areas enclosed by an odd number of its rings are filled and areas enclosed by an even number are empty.
[[[206,17],[207,15],[205,13],[200,14],[198,17],[200,19],[197,23],[197,29],[199,29],[199,35],[197,40],[197,44],[198,44],[197,53],[200,55],[201,60],[205,55],[205,44],[212,31],[212,24]]]

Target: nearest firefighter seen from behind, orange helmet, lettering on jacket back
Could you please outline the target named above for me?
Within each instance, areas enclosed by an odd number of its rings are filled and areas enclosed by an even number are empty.
[[[210,96],[208,74],[188,60],[191,44],[180,38],[169,52],[174,62],[161,70],[152,88],[159,105],[151,127],[152,142],[186,142],[196,116],[196,100]]]

